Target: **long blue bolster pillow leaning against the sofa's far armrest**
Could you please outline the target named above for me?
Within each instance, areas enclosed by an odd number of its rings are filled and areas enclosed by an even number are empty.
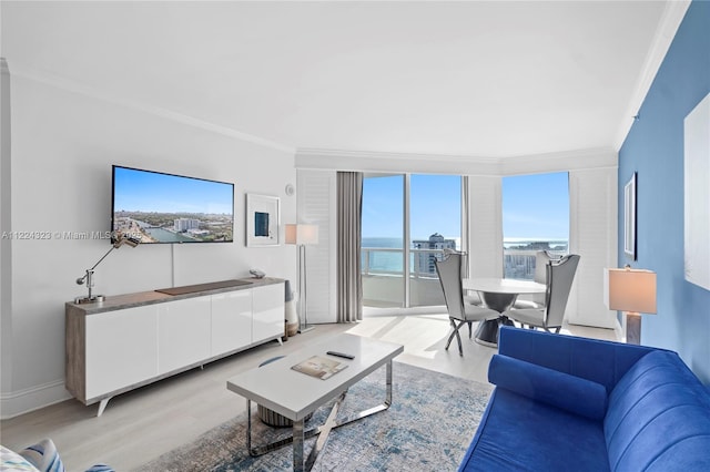
[[[570,413],[602,420],[607,389],[601,383],[503,355],[494,355],[488,381]]]

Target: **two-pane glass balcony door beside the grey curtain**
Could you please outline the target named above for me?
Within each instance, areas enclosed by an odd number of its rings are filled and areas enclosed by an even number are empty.
[[[444,249],[460,249],[460,176],[367,175],[363,184],[363,304],[443,305],[434,260]]]

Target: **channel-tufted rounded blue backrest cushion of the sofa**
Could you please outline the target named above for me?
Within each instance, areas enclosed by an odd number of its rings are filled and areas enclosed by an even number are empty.
[[[633,365],[609,394],[611,470],[710,471],[710,397],[670,351]]]

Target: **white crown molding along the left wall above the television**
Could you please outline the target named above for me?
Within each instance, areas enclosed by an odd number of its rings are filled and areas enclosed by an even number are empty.
[[[7,68],[7,64],[4,64]],[[247,143],[256,144],[264,147],[270,147],[276,151],[282,151],[288,154],[296,152],[295,147],[287,146],[274,141],[270,141],[253,134],[244,133],[239,130],[234,130],[229,126],[212,123],[205,120],[201,120],[194,116],[190,116],[183,113],[179,113],[161,106],[151,105],[136,100],[126,99],[123,96],[113,95],[104,91],[91,88],[79,81],[52,74],[45,71],[40,71],[33,68],[24,66],[23,64],[12,63],[12,76],[22,78],[33,82],[39,82],[44,85],[49,85],[55,89],[60,89],[67,92],[75,93],[79,95],[88,96],[102,102],[111,103],[113,105],[126,107],[130,110],[139,111],[142,113],[159,116],[164,120],[170,120],[176,123],[181,123],[187,126],[197,127],[212,133],[221,134],[224,136],[233,137]]]

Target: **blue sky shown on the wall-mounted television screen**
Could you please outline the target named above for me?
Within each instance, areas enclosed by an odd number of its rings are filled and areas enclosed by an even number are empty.
[[[114,170],[116,211],[233,214],[232,184],[125,167]]]

